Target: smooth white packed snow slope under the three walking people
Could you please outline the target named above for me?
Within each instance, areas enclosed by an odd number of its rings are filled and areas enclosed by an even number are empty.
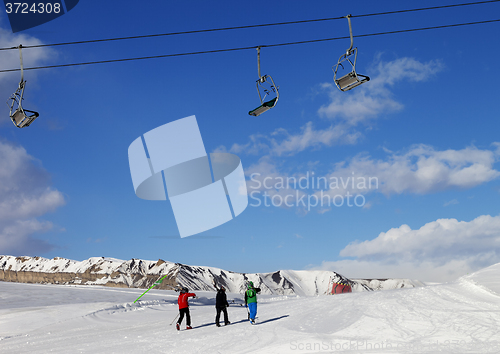
[[[453,283],[334,296],[259,297],[257,324],[228,294],[190,300],[192,330],[170,325],[177,293],[0,282],[0,353],[499,353],[500,264]],[[232,302],[232,301],[231,301]]]

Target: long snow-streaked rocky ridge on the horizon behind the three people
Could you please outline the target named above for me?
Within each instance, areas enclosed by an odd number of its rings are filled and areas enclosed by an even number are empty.
[[[248,280],[268,295],[315,296],[328,294],[333,282],[348,282],[353,292],[422,286],[409,279],[352,280],[332,271],[279,270],[244,274],[213,267],[189,266],[163,260],[146,261],[92,257],[85,261],[65,258],[0,256],[0,280],[21,283],[105,285],[149,288],[166,275],[157,289],[185,286],[194,291],[213,291],[213,281],[231,293],[241,293]]]

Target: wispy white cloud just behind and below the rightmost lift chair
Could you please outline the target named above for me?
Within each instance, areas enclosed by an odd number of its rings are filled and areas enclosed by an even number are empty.
[[[403,104],[397,102],[389,90],[399,81],[426,81],[442,69],[439,61],[422,63],[413,58],[399,58],[390,62],[379,61],[374,65],[372,77],[349,92],[340,92],[333,84],[323,84],[328,91],[330,103],[322,106],[318,113],[329,119],[342,119],[356,125],[381,114],[397,112]]]

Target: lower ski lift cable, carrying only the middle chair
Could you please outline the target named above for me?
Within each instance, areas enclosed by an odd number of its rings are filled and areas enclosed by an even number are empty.
[[[344,18],[344,17],[342,17],[342,18]],[[359,35],[355,35],[353,37],[361,38],[361,37],[381,36],[381,35],[386,35],[386,34],[408,33],[408,32],[434,30],[434,29],[441,29],[441,28],[452,28],[452,27],[461,27],[461,26],[470,26],[470,25],[494,23],[494,22],[500,22],[500,19],[483,20],[483,21],[467,22],[467,23],[456,23],[456,24],[451,24],[451,25],[441,25],[441,26],[432,26],[432,27],[411,28],[411,29],[395,30],[395,31],[388,31],[388,32],[377,32],[377,33],[369,33],[369,34],[359,34]],[[259,45],[259,47],[261,47],[261,48],[281,47],[281,46],[289,46],[289,45],[297,45],[297,44],[334,41],[334,40],[347,39],[347,38],[350,38],[350,36],[335,37],[335,38],[312,39],[312,40],[297,41],[297,42],[265,44],[265,45]],[[158,58],[169,58],[169,57],[179,57],[179,56],[198,55],[198,54],[212,54],[212,53],[233,52],[233,51],[241,51],[241,50],[248,50],[248,49],[255,50],[256,47],[257,46],[254,45],[254,46],[248,46],[248,47],[214,49],[214,50],[205,50],[205,51],[198,51],[198,52],[153,55],[153,56],[146,56],[146,57],[122,58],[122,59],[99,60],[99,61],[90,61],[90,62],[82,62],[82,63],[70,63],[70,64],[57,64],[57,65],[35,66],[35,67],[30,67],[30,68],[24,68],[24,70],[53,69],[53,68],[62,68],[62,67],[70,67],[70,66],[82,66],[82,65],[93,65],[93,64],[117,63],[117,62],[125,62],[125,61],[158,59]],[[19,47],[16,47],[16,49],[18,49],[18,48]],[[23,46],[23,48],[26,48],[26,47]],[[4,70],[0,70],[0,73],[20,71],[20,70],[21,69],[4,69]]]

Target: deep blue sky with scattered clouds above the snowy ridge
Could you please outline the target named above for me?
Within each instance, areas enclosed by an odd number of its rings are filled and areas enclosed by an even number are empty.
[[[360,15],[453,1],[80,2],[0,47]],[[97,7],[99,6],[99,7]],[[354,34],[497,19],[500,4],[353,18]],[[17,129],[0,118],[0,254],[75,260],[164,259],[237,272],[330,269],[350,277],[446,281],[500,262],[499,24],[354,39],[370,82],[349,92],[332,66],[349,40],[263,48],[280,87],[259,117],[255,49],[25,72]],[[23,51],[25,67],[258,46],[348,35],[347,20]],[[1,51],[2,68],[19,67]],[[0,95],[19,73],[0,73]],[[205,148],[241,158],[261,200],[236,219],[181,239],[169,202],[134,194],[127,149],[141,134],[196,115]],[[356,185],[359,206],[264,205],[263,186],[304,176]],[[259,176],[259,177],[255,177]],[[348,180],[351,178],[351,180]],[[377,188],[357,183],[369,178]],[[272,183],[271,183],[272,182]],[[317,188],[268,190],[312,198]],[[338,198],[340,198],[338,197]],[[280,199],[282,198],[282,199]],[[292,200],[292,199],[288,199]],[[337,199],[337,204],[340,199]],[[309,210],[308,210],[309,209]]]

